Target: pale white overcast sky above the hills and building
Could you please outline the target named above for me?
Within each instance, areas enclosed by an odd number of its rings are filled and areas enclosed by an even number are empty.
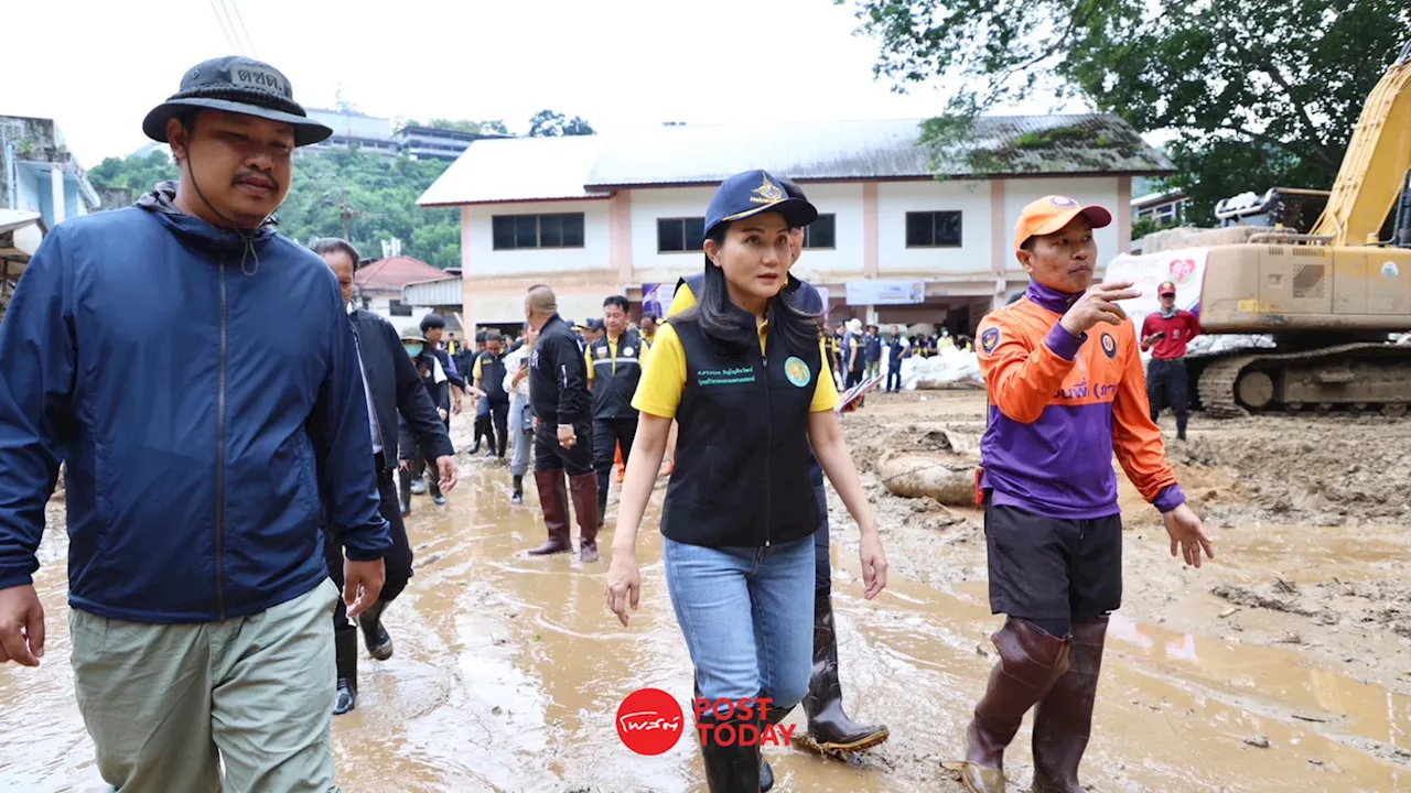
[[[176,92],[186,69],[231,54],[272,63],[305,107],[341,97],[371,116],[501,119],[516,134],[543,109],[581,116],[598,131],[937,114],[944,82],[900,95],[873,79],[878,44],[854,35],[845,1],[7,3],[6,62],[25,66],[11,71],[0,116],[55,119],[79,165],[92,168],[150,143],[147,111]],[[1007,110],[1085,109],[1040,97]]]

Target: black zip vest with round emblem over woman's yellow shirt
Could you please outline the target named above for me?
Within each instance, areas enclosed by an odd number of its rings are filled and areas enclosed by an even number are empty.
[[[813,535],[823,519],[809,447],[818,344],[790,349],[772,332],[768,356],[758,343],[725,353],[694,320],[670,325],[686,353],[686,388],[662,533],[707,547],[759,547]]]

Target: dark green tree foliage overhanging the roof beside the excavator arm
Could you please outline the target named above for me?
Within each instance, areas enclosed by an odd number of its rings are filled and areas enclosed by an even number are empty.
[[[879,40],[875,75],[959,83],[930,143],[1047,78],[1139,133],[1174,133],[1170,185],[1198,223],[1245,190],[1331,189],[1367,95],[1411,40],[1405,0],[834,1]]]

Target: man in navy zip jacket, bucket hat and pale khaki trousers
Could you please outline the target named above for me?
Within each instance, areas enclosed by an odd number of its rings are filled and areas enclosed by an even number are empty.
[[[103,779],[322,793],[325,509],[349,615],[378,600],[391,547],[337,279],[270,219],[295,147],[330,130],[238,56],[189,69],[143,130],[181,181],[54,229],[0,325],[0,662],[44,655],[31,576],[62,461],[75,691]]]

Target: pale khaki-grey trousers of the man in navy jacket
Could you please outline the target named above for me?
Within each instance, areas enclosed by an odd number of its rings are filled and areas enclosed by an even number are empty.
[[[103,780],[123,793],[336,792],[339,597],[325,580],[260,614],[186,625],[71,610],[73,687]]]

